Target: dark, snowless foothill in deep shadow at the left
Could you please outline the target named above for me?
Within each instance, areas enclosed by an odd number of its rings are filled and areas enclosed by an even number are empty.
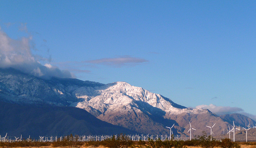
[[[0,102],[0,134],[39,136],[100,135],[135,131],[116,126],[76,107],[18,105]]]

